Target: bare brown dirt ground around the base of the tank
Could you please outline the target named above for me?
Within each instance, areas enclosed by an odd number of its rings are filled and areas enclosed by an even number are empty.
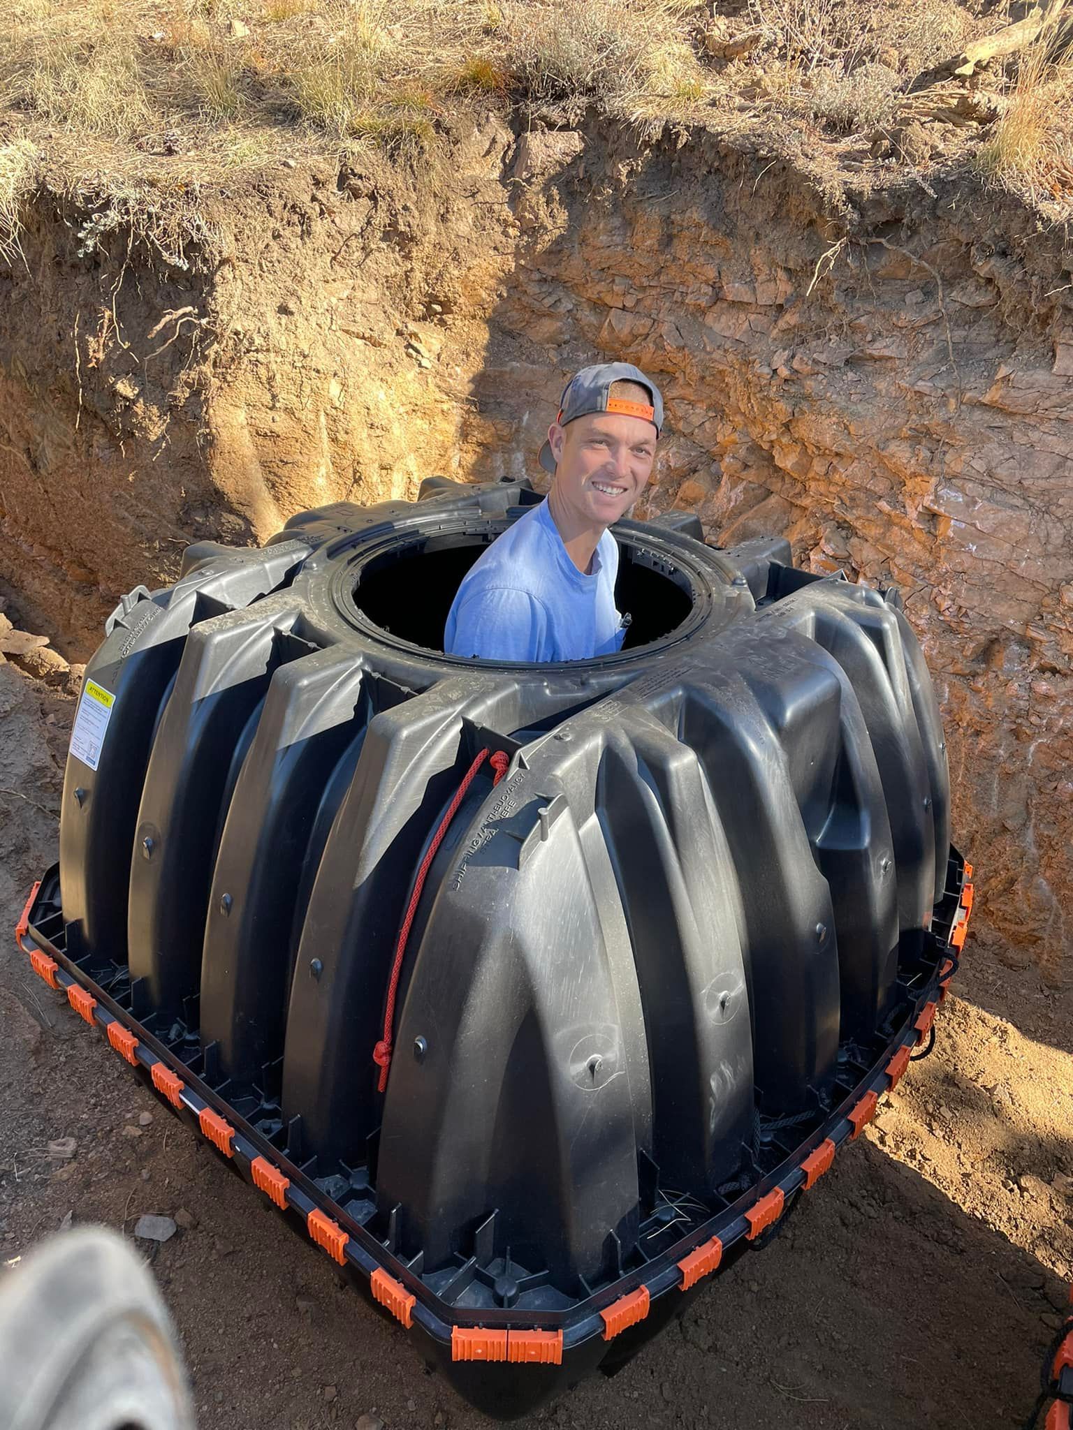
[[[54,858],[72,714],[70,699],[0,666],[9,930]],[[974,928],[934,1055],[910,1068],[785,1233],[718,1277],[615,1379],[582,1383],[532,1423],[1020,1424],[1073,1276],[1073,997],[1013,972],[1003,952]],[[0,1030],[0,1261],[67,1214],[129,1233],[142,1213],[190,1213],[153,1271],[202,1427],[485,1423],[96,1045],[7,938]],[[77,1148],[57,1165],[46,1144],[60,1137]]]

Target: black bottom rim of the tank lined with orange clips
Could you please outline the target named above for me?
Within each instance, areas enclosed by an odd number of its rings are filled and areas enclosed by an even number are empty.
[[[226,1081],[213,1078],[182,1022],[162,1038],[134,1017],[136,992],[124,965],[69,957],[57,865],[34,885],[16,937],[39,977],[66,992],[110,1050],[268,1195],[295,1230],[413,1331],[419,1353],[439,1366],[464,1399],[486,1414],[514,1419],[592,1370],[612,1374],[625,1364],[684,1310],[704,1280],[750,1247],[763,1246],[800,1193],[861,1133],[878,1098],[893,1091],[933,1031],[964,944],[973,905],[970,874],[951,848],[944,894],[918,957],[900,970],[893,1012],[868,1047],[840,1045],[834,1093],[794,1118],[761,1114],[743,1148],[750,1170],[714,1194],[714,1213],[698,1200],[658,1191],[652,1177],[654,1195],[638,1240],[644,1264],[605,1277],[588,1296],[536,1311],[466,1308],[466,1288],[475,1283],[494,1283],[499,1298],[509,1301],[505,1283],[524,1281],[524,1268],[491,1254],[494,1237],[485,1237],[482,1258],[482,1230],[475,1228],[472,1253],[459,1254],[452,1274],[423,1274],[419,1257],[408,1261],[399,1254],[391,1217],[361,1223],[346,1210],[355,1197],[352,1181],[338,1171],[318,1175],[316,1158],[302,1160],[300,1128],[285,1128],[270,1098],[243,1090],[236,1097]]]

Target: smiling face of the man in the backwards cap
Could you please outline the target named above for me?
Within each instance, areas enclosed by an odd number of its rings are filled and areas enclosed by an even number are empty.
[[[591,412],[548,430],[559,500],[587,525],[611,526],[652,475],[655,428],[644,418]]]

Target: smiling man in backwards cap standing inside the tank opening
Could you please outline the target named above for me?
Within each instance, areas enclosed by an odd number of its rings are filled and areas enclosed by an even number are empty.
[[[468,572],[444,649],[486,661],[588,661],[618,651],[618,546],[608,526],[652,475],[664,402],[631,363],[582,368],[541,448],[555,479]]]

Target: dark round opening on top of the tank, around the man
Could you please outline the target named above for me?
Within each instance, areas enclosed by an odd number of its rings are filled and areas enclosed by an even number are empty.
[[[366,619],[426,651],[444,649],[444,628],[462,578],[504,523],[482,531],[416,535],[369,561],[353,586],[353,603]],[[692,582],[664,553],[615,532],[618,581],[615,605],[629,613],[622,649],[658,641],[692,609]]]

